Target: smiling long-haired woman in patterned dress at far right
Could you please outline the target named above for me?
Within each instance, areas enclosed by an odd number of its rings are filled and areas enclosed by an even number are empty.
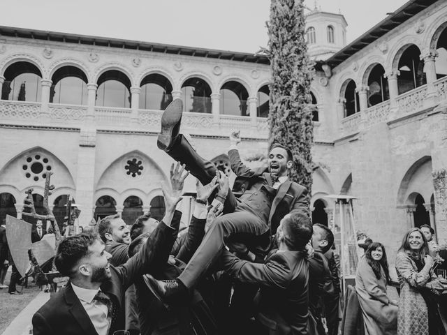
[[[400,281],[397,334],[445,334],[437,301],[447,285],[432,270],[427,239],[419,228],[411,228],[404,235],[396,257],[396,271]]]

